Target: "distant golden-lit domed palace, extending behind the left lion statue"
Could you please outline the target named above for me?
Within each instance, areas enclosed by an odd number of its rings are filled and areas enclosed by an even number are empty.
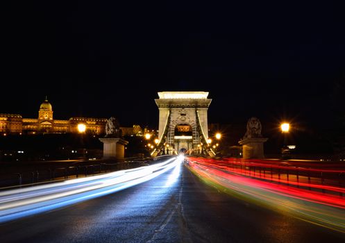
[[[68,120],[53,119],[53,107],[47,99],[40,105],[38,118],[23,118],[19,114],[0,114],[0,133],[78,133],[78,125],[84,124],[86,133],[105,133],[106,118],[71,117]],[[121,127],[123,135],[140,135],[142,128],[139,125],[133,127]]]

